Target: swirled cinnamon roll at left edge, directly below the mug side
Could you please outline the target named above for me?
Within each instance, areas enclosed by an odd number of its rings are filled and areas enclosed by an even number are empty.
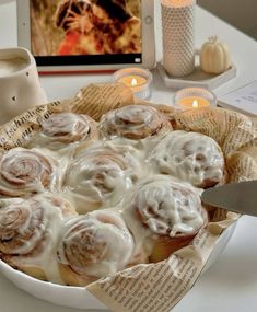
[[[14,148],[0,155],[0,197],[60,192],[73,153],[66,151]]]

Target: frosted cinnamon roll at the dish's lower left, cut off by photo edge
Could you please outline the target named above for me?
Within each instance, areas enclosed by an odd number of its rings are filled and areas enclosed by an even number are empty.
[[[57,195],[1,200],[0,258],[33,277],[61,282],[55,249],[66,218],[77,216]]]

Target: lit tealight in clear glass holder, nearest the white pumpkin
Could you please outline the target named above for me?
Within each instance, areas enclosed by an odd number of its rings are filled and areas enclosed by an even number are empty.
[[[177,111],[217,106],[217,96],[203,88],[185,88],[175,93],[174,108]]]

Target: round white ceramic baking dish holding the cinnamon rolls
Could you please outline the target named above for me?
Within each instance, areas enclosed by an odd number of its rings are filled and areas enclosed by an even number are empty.
[[[205,273],[217,261],[219,255],[225,249],[235,230],[235,227],[236,222],[230,226],[221,234],[213,247],[213,251],[202,273]],[[32,296],[46,300],[48,302],[59,305],[72,307],[77,309],[107,309],[106,305],[104,305],[100,300],[93,297],[84,287],[60,286],[51,282],[42,281],[11,268],[2,261],[0,261],[0,270],[20,289],[23,289]]]

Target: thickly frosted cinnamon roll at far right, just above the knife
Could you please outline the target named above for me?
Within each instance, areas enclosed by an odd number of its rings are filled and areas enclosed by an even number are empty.
[[[150,163],[160,173],[171,174],[201,188],[225,182],[225,161],[210,137],[183,130],[167,134],[153,149]]]

